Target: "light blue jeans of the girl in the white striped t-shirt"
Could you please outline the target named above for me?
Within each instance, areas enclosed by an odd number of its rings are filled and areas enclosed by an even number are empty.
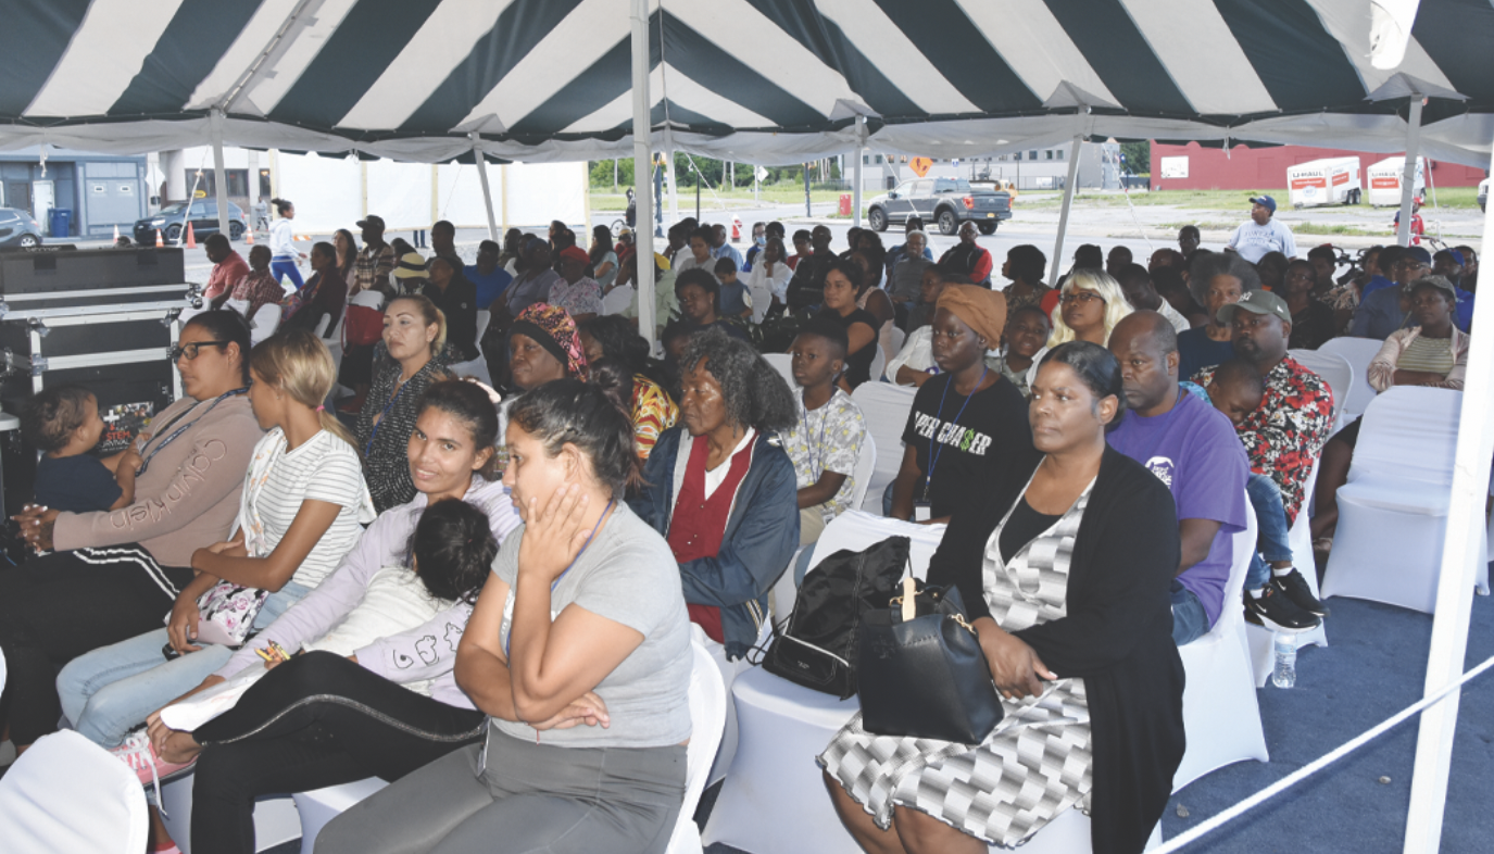
[[[290,582],[272,593],[254,620],[260,630],[275,623],[311,588]],[[146,715],[196,688],[233,657],[233,649],[203,643],[170,661],[161,654],[169,642],[166,629],[100,646],[73,658],[57,676],[63,714],[88,741],[117,747]]]

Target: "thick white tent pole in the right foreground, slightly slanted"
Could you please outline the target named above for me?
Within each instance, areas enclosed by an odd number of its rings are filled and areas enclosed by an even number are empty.
[[[1421,110],[1412,115],[1419,118]],[[1406,181],[1409,184],[1409,179]],[[1403,227],[1404,212],[1403,199]],[[1482,245],[1494,246],[1494,214],[1484,215]],[[1475,300],[1473,321],[1479,328],[1494,328],[1494,308]],[[1485,532],[1484,500],[1488,496],[1490,457],[1494,454],[1494,409],[1488,405],[1488,390],[1494,388],[1494,339],[1490,336],[1473,336],[1469,348],[1469,373],[1463,388],[1458,448],[1452,466],[1452,502],[1442,540],[1437,614],[1431,621],[1431,649],[1427,652],[1427,687],[1422,696],[1458,679],[1469,646],[1473,579],[1479,561],[1484,560],[1479,548]],[[1442,814],[1448,800],[1448,772],[1452,766],[1452,736],[1458,726],[1460,696],[1461,691],[1452,691],[1448,699],[1421,715],[1416,764],[1410,782],[1410,812],[1406,817],[1403,848],[1406,854],[1436,854],[1442,844]]]

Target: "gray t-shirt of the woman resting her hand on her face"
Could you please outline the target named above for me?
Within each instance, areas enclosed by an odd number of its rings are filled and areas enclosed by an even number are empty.
[[[518,576],[518,546],[524,529],[503,540],[493,572],[509,584]],[[690,738],[690,618],[680,590],[680,564],[657,532],[644,524],[627,505],[619,503],[596,532],[592,545],[577,558],[550,594],[551,618],[577,605],[642,633],[644,642],[623,658],[595,690],[613,721],[610,727],[578,726],[536,733],[529,724],[500,721],[493,726],[514,738],[562,747],[648,748],[668,747]],[[508,642],[514,594],[503,606],[500,638]]]

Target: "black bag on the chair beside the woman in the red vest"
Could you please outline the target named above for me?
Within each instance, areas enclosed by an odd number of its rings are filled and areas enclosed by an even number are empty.
[[[763,669],[850,699],[858,681],[858,630],[867,614],[887,608],[908,566],[910,546],[908,537],[893,536],[864,551],[837,551],[807,572],[793,612],[786,624],[774,627]]]

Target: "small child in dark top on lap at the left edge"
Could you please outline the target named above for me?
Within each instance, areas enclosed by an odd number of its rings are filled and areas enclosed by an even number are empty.
[[[58,385],[31,399],[21,431],[39,451],[36,503],[64,514],[115,511],[134,503],[136,446],[99,458],[99,399],[81,385]]]

